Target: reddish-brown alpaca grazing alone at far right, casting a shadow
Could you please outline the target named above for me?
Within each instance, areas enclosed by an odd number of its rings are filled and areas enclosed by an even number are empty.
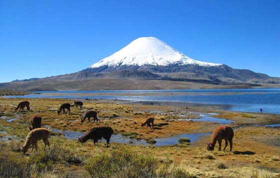
[[[232,150],[232,138],[233,138],[233,130],[231,129],[231,127],[229,126],[219,126],[216,127],[213,134],[212,134],[212,139],[211,142],[209,144],[207,144],[207,150],[208,151],[213,151],[216,142],[218,141],[218,151],[221,151],[221,140],[224,139],[225,140],[225,145],[223,148],[223,151],[225,150],[226,146],[227,146],[227,141],[229,142],[230,145],[230,150]]]

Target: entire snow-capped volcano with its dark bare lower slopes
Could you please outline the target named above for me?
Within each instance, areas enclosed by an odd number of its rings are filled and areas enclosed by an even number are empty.
[[[28,87],[32,89],[41,89],[40,86],[36,86],[41,82],[45,83],[44,87],[48,89],[47,84],[53,86],[53,89],[61,89],[64,86],[59,86],[59,83],[69,86],[71,82],[74,85],[80,80],[98,80],[98,84],[101,84],[102,82],[100,80],[102,79],[104,81],[110,81],[112,85],[116,85],[113,81],[117,81],[117,79],[120,79],[118,81],[121,81],[122,84],[128,82],[127,85],[130,85],[130,80],[149,80],[146,82],[148,85],[150,85],[151,81],[155,84],[160,83],[160,86],[158,86],[160,89],[164,89],[162,86],[165,86],[162,82],[170,83],[174,81],[191,82],[192,84],[203,83],[216,85],[217,87],[221,87],[222,85],[252,87],[261,86],[262,84],[280,83],[280,78],[270,77],[266,74],[256,73],[248,69],[234,69],[225,64],[194,60],[155,37],[141,37],[84,70],[40,79],[14,80],[11,84],[0,84],[0,88],[16,89],[16,87],[27,86],[25,84],[28,83]],[[83,82],[81,83],[86,85]],[[143,84],[145,82],[141,81],[136,83]],[[107,88],[107,84],[103,83],[102,85],[104,88]],[[113,86],[111,87],[114,88]],[[135,88],[142,87],[144,88],[144,86]],[[102,86],[98,86],[97,88],[102,89]],[[125,86],[119,86],[117,88],[125,89]],[[127,86],[127,88],[131,87]],[[156,86],[149,88],[154,89]]]

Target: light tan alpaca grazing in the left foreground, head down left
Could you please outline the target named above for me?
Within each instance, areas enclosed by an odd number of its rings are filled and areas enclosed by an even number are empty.
[[[49,130],[46,128],[37,128],[32,131],[30,131],[26,137],[25,143],[22,146],[21,145],[21,151],[23,154],[25,154],[28,151],[28,148],[30,148],[30,145],[32,147],[31,152],[33,151],[33,148],[35,147],[35,150],[37,151],[37,142],[39,140],[43,140],[44,148],[46,145],[49,148],[49,142],[48,142],[48,136],[49,136]]]

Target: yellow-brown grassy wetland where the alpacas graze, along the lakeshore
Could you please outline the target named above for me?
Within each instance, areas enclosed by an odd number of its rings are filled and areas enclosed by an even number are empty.
[[[212,107],[174,107],[127,104],[118,101],[81,100],[82,110],[71,107],[71,114],[56,110],[69,99],[28,99],[29,112],[15,112],[24,99],[0,98],[0,177],[74,178],[74,177],[158,177],[158,178],[278,178],[280,177],[280,129],[264,125],[280,123],[280,116],[264,113],[242,113],[216,110]],[[88,110],[98,113],[98,123],[87,119],[80,122]],[[234,121],[233,149],[225,152],[206,151],[211,135],[195,142],[177,138],[177,143],[155,146],[161,138],[180,134],[211,133],[220,125],[199,121],[199,113],[217,113],[215,118]],[[50,149],[31,149],[23,155],[32,114],[42,117],[42,127],[50,128]],[[141,127],[145,119],[154,118],[154,128]],[[127,144],[111,140],[93,144],[67,139],[63,131],[85,133],[94,126],[110,126],[114,134],[128,140]],[[54,132],[55,131],[55,132]],[[134,144],[142,141],[145,145]],[[180,141],[179,141],[180,140]],[[150,143],[150,144],[148,144]],[[222,142],[222,148],[224,141]]]

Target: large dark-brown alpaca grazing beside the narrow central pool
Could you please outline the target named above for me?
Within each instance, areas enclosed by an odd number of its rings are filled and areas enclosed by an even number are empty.
[[[110,142],[111,135],[113,134],[113,129],[109,126],[96,126],[88,130],[81,138],[78,138],[80,143],[85,143],[89,139],[93,139],[93,143],[97,143],[98,140],[104,138],[106,140],[106,147]]]

